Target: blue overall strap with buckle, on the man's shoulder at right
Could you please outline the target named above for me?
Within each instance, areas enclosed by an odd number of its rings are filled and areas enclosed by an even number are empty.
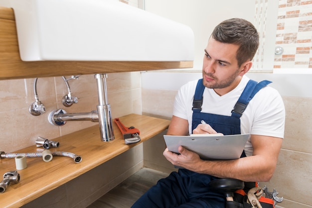
[[[245,111],[249,101],[265,86],[272,83],[268,80],[263,80],[257,83],[254,80],[249,80],[242,95],[239,97],[237,103],[232,110],[232,116],[240,118]]]

